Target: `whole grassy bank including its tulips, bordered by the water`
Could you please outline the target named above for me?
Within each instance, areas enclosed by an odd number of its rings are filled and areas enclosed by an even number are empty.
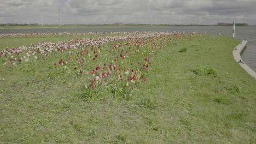
[[[172,32],[0,34],[0,143],[253,143],[240,40]]]

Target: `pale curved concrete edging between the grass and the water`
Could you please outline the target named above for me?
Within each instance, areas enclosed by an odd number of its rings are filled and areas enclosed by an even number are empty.
[[[254,79],[256,79],[255,71],[253,71],[250,67],[248,67],[248,65],[245,62],[243,62],[240,56],[240,52],[243,50],[243,48],[245,48],[246,44],[247,44],[247,40],[243,40],[239,45],[237,45],[233,51],[233,56],[236,62],[238,62],[241,65],[241,67],[247,71],[248,74],[250,74],[252,77],[254,77]]]

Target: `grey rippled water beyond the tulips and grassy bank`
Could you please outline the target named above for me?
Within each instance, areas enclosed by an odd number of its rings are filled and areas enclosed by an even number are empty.
[[[119,32],[119,31],[168,31],[185,33],[207,33],[212,35],[226,35],[232,37],[232,26],[129,26],[129,27],[69,27],[69,28],[26,28],[26,29],[0,29],[0,34],[7,33],[75,33],[75,32]],[[241,53],[243,61],[256,71],[256,27],[236,27],[236,39],[246,39],[248,44]]]

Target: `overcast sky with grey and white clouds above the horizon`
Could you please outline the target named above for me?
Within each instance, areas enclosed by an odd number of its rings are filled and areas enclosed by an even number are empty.
[[[256,25],[256,0],[1,0],[0,23]],[[201,17],[201,19],[199,18]]]

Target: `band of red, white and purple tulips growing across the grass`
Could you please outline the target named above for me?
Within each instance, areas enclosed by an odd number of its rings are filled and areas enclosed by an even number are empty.
[[[1,37],[66,35],[69,33],[2,34]],[[0,62],[8,70],[44,67],[45,79],[79,77],[83,97],[102,99],[106,92],[130,98],[136,87],[147,81],[154,58],[167,44],[192,37],[168,32],[112,32],[72,34],[119,34],[113,37],[40,42],[6,48]]]

